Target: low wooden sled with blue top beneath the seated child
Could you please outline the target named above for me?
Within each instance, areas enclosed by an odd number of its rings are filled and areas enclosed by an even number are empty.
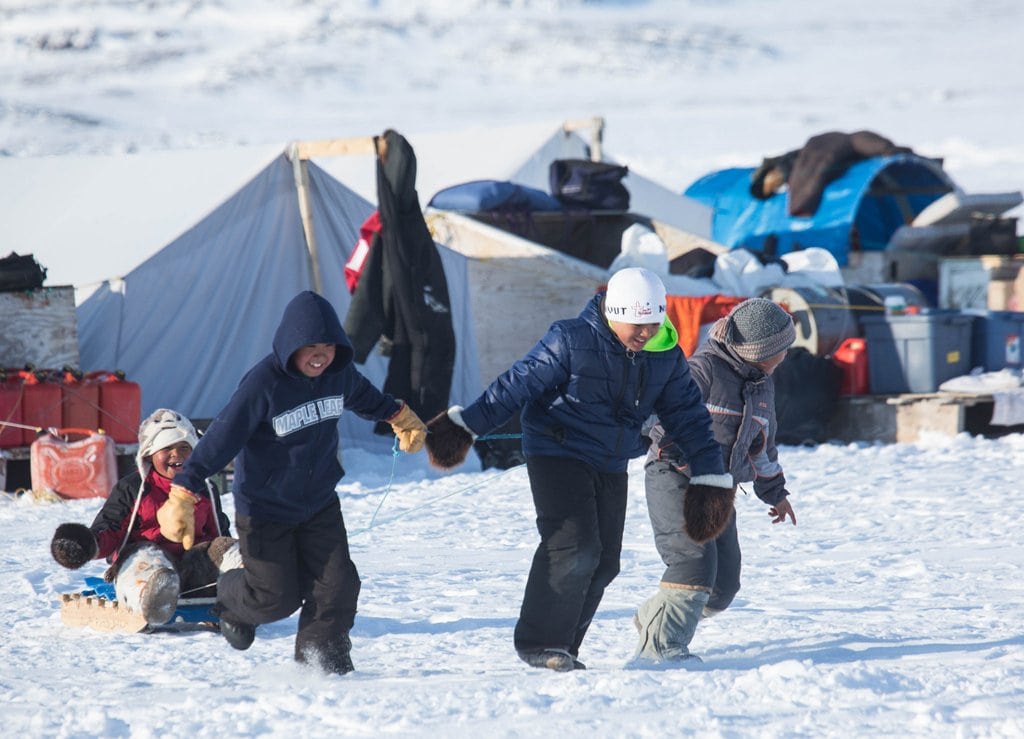
[[[141,613],[118,603],[112,582],[86,577],[85,584],[86,589],[79,593],[60,596],[60,620],[66,625],[120,634],[217,628],[219,619],[213,613],[215,598],[181,598],[170,621],[150,625]]]

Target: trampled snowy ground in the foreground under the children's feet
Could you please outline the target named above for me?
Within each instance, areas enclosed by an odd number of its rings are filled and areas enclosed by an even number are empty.
[[[431,471],[346,454],[362,576],[356,672],[292,662],[296,620],[248,652],[212,633],[113,637],[60,623],[79,575],[49,558],[96,501],[0,503],[0,715],[10,736],[1019,737],[1024,437],[783,447],[799,525],[737,502],[743,588],[689,669],[624,669],[655,586],[638,463],[623,571],[581,658],[526,667],[512,628],[536,544],[525,471]],[[230,508],[230,497],[227,497]],[[379,510],[378,510],[379,509]],[[376,519],[374,519],[376,513]],[[373,528],[366,530],[373,520]],[[87,574],[99,574],[94,563]]]

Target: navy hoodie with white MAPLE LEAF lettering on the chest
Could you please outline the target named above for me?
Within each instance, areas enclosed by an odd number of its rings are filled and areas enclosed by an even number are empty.
[[[289,364],[296,349],[334,344],[334,361],[317,378]],[[399,404],[352,364],[352,347],[331,304],[311,292],[285,308],[273,351],[239,383],[174,482],[194,492],[236,458],[234,509],[256,519],[301,523],[337,495],[338,418],[344,409],[372,421]]]

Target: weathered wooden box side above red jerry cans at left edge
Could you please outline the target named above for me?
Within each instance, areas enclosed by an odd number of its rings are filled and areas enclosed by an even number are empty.
[[[0,366],[79,366],[75,289],[0,293]]]

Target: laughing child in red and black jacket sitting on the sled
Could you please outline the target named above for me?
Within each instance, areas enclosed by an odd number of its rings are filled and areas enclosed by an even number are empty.
[[[105,558],[111,566],[103,578],[115,583],[118,602],[151,625],[171,619],[179,596],[213,596],[218,565],[241,564],[212,484],[211,494],[196,506],[195,547],[186,552],[160,533],[157,511],[198,441],[188,419],[155,410],[139,426],[137,469],[115,484],[91,526],[62,523],[50,542],[53,559],[69,569]]]

